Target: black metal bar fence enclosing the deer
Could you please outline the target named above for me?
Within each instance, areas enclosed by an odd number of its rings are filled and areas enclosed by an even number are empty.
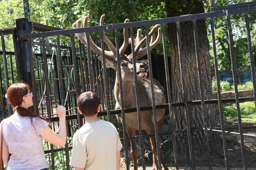
[[[169,134],[172,136],[173,142],[173,150],[175,157],[175,167],[178,170],[178,155],[177,155],[177,147],[175,147],[176,140],[175,136],[179,133],[187,133],[188,135],[188,143],[189,143],[189,153],[190,153],[190,167],[195,169],[195,156],[193,154],[193,133],[197,131],[203,131],[206,136],[206,143],[209,145],[208,134],[209,132],[221,133],[223,148],[224,148],[224,160],[226,164],[226,169],[230,169],[230,165],[228,162],[228,150],[226,144],[226,133],[232,133],[234,135],[239,135],[241,140],[241,156],[243,160],[243,167],[247,169],[247,160],[244,148],[244,136],[256,137],[256,135],[245,134],[243,133],[243,126],[241,122],[241,111],[239,108],[239,102],[245,101],[256,101],[256,82],[255,78],[253,79],[253,90],[254,97],[247,98],[239,98],[238,89],[237,89],[237,80],[236,80],[236,64],[234,60],[233,54],[233,38],[232,38],[232,24],[230,22],[230,16],[234,14],[244,14],[246,28],[247,28],[247,40],[248,40],[248,51],[250,57],[251,64],[251,74],[252,77],[254,75],[254,65],[252,58],[252,48],[251,48],[251,39],[250,39],[250,28],[249,28],[249,20],[250,12],[256,11],[256,2],[250,3],[242,3],[232,6],[221,6],[221,7],[213,7],[212,12],[204,13],[204,14],[193,14],[187,16],[180,17],[171,17],[164,18],[158,20],[149,20],[149,21],[140,21],[134,23],[122,23],[122,24],[114,24],[107,26],[96,26],[96,27],[86,27],[86,28],[77,28],[77,29],[68,29],[68,30],[59,30],[57,28],[52,28],[49,26],[44,26],[38,23],[29,22],[27,18],[16,20],[16,28],[8,28],[1,29],[1,42],[2,42],[2,51],[0,52],[0,62],[3,62],[4,68],[1,68],[0,64],[0,86],[1,86],[1,111],[2,118],[6,118],[12,114],[12,108],[10,105],[6,104],[5,94],[6,89],[10,84],[14,83],[15,80],[24,82],[31,85],[34,91],[34,106],[33,111],[41,116],[49,118],[51,122],[53,122],[52,128],[56,131],[58,129],[58,116],[55,113],[55,107],[57,105],[65,105],[67,109],[67,128],[68,128],[68,139],[65,147],[55,147],[52,144],[48,144],[47,142],[44,144],[45,153],[47,154],[47,160],[52,170],[54,169],[70,169],[69,166],[69,157],[70,150],[72,149],[72,136],[73,133],[77,129],[84,124],[84,119],[77,114],[76,111],[76,98],[84,91],[95,91],[101,98],[102,101],[102,111],[99,113],[99,116],[102,116],[102,119],[108,120],[115,125],[118,126],[119,134],[122,136],[122,142],[124,145],[124,153],[126,159],[126,168],[130,169],[129,156],[128,156],[128,141],[132,139],[140,140],[141,147],[141,157],[142,157],[142,167],[145,170],[145,160],[144,160],[144,150],[143,150],[143,139],[149,138],[150,136],[155,136],[157,139],[157,156],[160,158],[160,141],[158,141],[158,137],[161,135]],[[218,61],[217,61],[217,53],[216,53],[216,43],[215,43],[215,26],[214,20],[218,19],[218,17],[227,17],[228,24],[228,33],[229,33],[229,44],[230,44],[230,59],[232,61],[232,72],[233,72],[233,82],[235,87],[236,97],[234,99],[221,99],[221,91],[220,85],[218,81]],[[201,73],[201,65],[197,65],[198,71],[198,81],[199,88],[201,91],[201,100],[199,101],[187,101],[186,100],[186,87],[184,87],[184,78],[183,78],[183,69],[184,65],[181,62],[182,56],[181,51],[181,38],[180,38],[180,23],[185,21],[192,21],[194,28],[194,37],[195,37],[195,51],[196,51],[196,59],[197,63],[200,63],[199,57],[199,47],[198,47],[198,35],[197,31],[197,23],[196,20],[207,19],[210,20],[211,23],[211,36],[212,36],[212,47],[214,52],[214,66],[215,66],[215,77],[217,80],[217,89],[218,89],[218,99],[205,99],[204,92],[201,82],[202,73]],[[169,73],[170,61],[168,61],[169,57],[166,52],[166,34],[165,27],[168,23],[176,23],[177,26],[177,40],[179,47],[179,57],[180,57],[180,75],[182,79],[183,86],[183,95],[184,101],[179,103],[172,102],[171,96],[171,79]],[[145,28],[146,33],[146,42],[149,44],[148,37],[148,27],[152,25],[160,24],[162,29],[162,40],[163,40],[163,51],[164,54],[161,57],[158,55],[162,61],[162,65],[159,64],[154,65],[159,60],[153,59],[154,53],[150,53],[150,49],[148,48],[148,60],[149,60],[149,79],[151,86],[153,85],[153,73],[154,78],[160,80],[162,86],[166,89],[166,97],[168,98],[168,102],[163,105],[156,105],[154,99],[154,88],[151,88],[152,96],[152,105],[147,107],[140,107],[140,103],[137,100],[137,108],[124,108],[123,103],[123,89],[122,85],[120,85],[119,90],[121,91],[121,109],[115,110],[115,97],[113,94],[113,88],[115,84],[115,72],[112,69],[106,68],[106,63],[104,60],[104,52],[103,52],[103,64],[99,61],[98,55],[93,53],[92,51],[87,49],[87,46],[82,44],[79,40],[76,39],[74,34],[77,33],[87,33],[87,32],[97,32],[100,33],[100,39],[94,38],[95,42],[102,48],[106,49],[107,47],[103,42],[103,31],[115,31],[115,40],[116,40],[116,49],[119,47],[119,35],[118,31],[123,28],[130,28],[131,41],[133,42],[133,28],[142,27]],[[32,31],[37,31],[36,33],[32,33]],[[6,51],[5,47],[5,38],[13,40],[13,49],[14,51]],[[69,45],[64,45],[64,42]],[[90,45],[90,42],[87,42]],[[194,49],[191,49],[194,50]],[[131,48],[132,56],[135,57],[134,54],[134,46]],[[135,61],[135,58],[134,58]],[[118,63],[118,76],[119,82],[122,82],[121,78],[121,70],[120,70],[120,56],[117,53],[117,63]],[[136,66],[135,62],[133,65]],[[164,65],[164,66],[163,66]],[[156,69],[156,67],[161,67],[163,72]],[[2,71],[4,70],[4,71]],[[135,69],[134,69],[135,70]],[[153,72],[153,73],[152,73]],[[4,77],[2,76],[4,73]],[[135,76],[136,74],[134,74]],[[136,76],[135,76],[136,77]],[[135,87],[137,87],[137,79],[134,79]],[[153,87],[153,86],[152,86]],[[136,99],[138,96],[136,96]],[[236,103],[237,107],[237,116],[238,116],[238,124],[239,133],[226,131],[228,129],[233,129],[224,126],[224,116],[222,111],[223,103]],[[192,127],[191,122],[191,106],[193,105],[201,105],[201,114],[204,116],[204,122],[207,122],[207,115],[205,111],[205,106],[209,104],[218,104],[218,109],[220,111],[220,124],[221,127],[209,128],[207,123],[204,124],[204,127]],[[184,107],[186,113],[186,129],[175,130],[175,120],[174,120],[174,108],[176,107]],[[170,118],[170,126],[172,127],[171,131],[166,133],[157,133],[157,127],[154,126],[155,134],[143,135],[140,114],[143,111],[152,110],[154,113],[154,125],[156,125],[156,113],[158,109],[166,108],[168,110],[169,118]],[[138,113],[138,122],[139,122],[139,135],[138,136],[127,136],[125,133],[126,125],[125,125],[125,114],[137,112]],[[123,124],[117,124],[114,115],[121,114]],[[153,125],[152,125],[153,126]],[[252,126],[253,128],[254,126]],[[208,156],[210,157],[210,151],[208,150]],[[210,161],[207,164],[209,169],[212,169],[212,165]],[[160,159],[158,159],[157,163],[158,168],[161,167]]]

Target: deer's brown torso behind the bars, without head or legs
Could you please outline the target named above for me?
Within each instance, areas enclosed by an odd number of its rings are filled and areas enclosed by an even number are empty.
[[[160,83],[154,79],[154,95],[155,105],[161,105],[166,103],[166,98],[163,94],[163,87]],[[123,96],[124,96],[124,108],[136,108],[136,96],[135,96],[135,84],[134,81],[122,83]],[[138,100],[140,101],[140,107],[152,105],[151,85],[148,78],[138,79]],[[119,91],[119,82],[116,79],[114,94],[116,99],[116,109],[121,109],[121,99]],[[157,110],[157,122],[163,119],[165,109]],[[120,115],[117,118],[122,122]],[[143,130],[147,130],[149,126],[154,124],[153,111],[141,111],[141,125]],[[139,130],[137,112],[125,113],[125,125],[132,130]]]

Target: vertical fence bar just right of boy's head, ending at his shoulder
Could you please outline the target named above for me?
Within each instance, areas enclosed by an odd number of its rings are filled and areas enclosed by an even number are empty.
[[[87,33],[88,34],[88,33]],[[100,42],[101,42],[101,49],[102,49],[102,62],[103,62],[103,75],[104,75],[104,86],[105,86],[105,100],[106,100],[106,110],[107,110],[107,117],[108,121],[110,121],[110,103],[109,103],[109,87],[108,87],[108,73],[106,68],[106,58],[105,58],[105,51],[104,51],[104,40],[103,40],[103,31],[100,31]],[[88,38],[87,38],[88,40]]]

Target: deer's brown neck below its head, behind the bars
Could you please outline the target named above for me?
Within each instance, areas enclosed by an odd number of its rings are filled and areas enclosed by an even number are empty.
[[[116,82],[115,82],[115,87],[114,87],[115,99],[120,105],[121,104],[121,96],[120,96],[119,85],[120,85],[120,83],[118,81],[118,77],[116,76]],[[135,94],[134,94],[134,81],[122,80],[122,91],[123,91],[124,105],[129,106],[131,101],[134,101],[133,100],[133,97],[135,96]]]

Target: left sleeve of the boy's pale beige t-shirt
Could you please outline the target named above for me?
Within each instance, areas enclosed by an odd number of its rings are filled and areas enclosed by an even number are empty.
[[[77,138],[76,134],[73,136],[73,149],[70,159],[70,165],[73,167],[84,168],[87,160],[86,146],[82,144]]]

